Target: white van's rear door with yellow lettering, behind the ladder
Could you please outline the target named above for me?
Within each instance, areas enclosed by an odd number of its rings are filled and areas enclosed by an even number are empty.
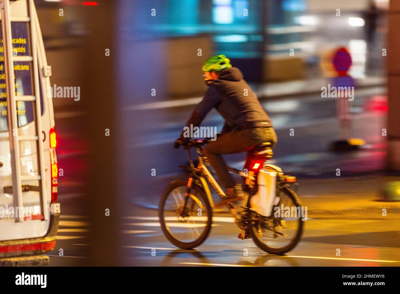
[[[11,37],[14,56],[32,56],[32,40],[29,36],[28,21],[38,27],[36,11],[29,18],[28,0],[10,1]],[[30,1],[33,4],[33,1]],[[33,8],[34,9],[34,8]],[[2,21],[2,20],[0,20]],[[49,84],[48,76],[44,76],[43,68],[47,66],[44,48],[40,35],[40,28],[34,36],[38,55],[38,76],[41,104],[42,132],[39,134],[42,144],[44,173],[41,175],[45,184],[45,205],[50,207],[52,200],[52,162],[56,159],[50,148],[50,130],[54,127],[54,116],[51,97],[47,98],[46,88]],[[10,136],[8,130],[6,77],[4,72],[4,42],[3,32],[0,32],[0,241],[36,238],[45,236],[49,230],[50,219],[44,220],[41,210],[39,181],[29,180],[22,182],[22,207],[15,207],[12,187],[12,168],[10,156]],[[21,58],[22,60],[23,58]],[[34,81],[32,62],[14,59],[14,77],[16,96],[34,96]],[[50,101],[49,101],[50,100]],[[18,136],[33,136],[35,130],[34,101],[18,101],[16,105],[18,119]],[[35,141],[20,141],[20,175],[21,178],[38,176],[38,152]],[[57,172],[57,171],[56,171]],[[49,209],[47,209],[49,210]],[[24,221],[16,222],[16,214],[22,214]],[[47,214],[50,214],[48,211]]]

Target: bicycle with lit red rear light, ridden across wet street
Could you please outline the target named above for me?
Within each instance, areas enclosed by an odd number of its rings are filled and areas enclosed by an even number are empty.
[[[276,197],[279,198],[279,202],[275,203],[273,211],[284,207],[302,207],[300,199],[292,189],[292,185],[297,188],[296,178],[284,175],[278,166],[264,164],[272,158],[271,144],[262,143],[249,150],[244,170],[227,166],[230,172],[244,177],[245,181],[244,184],[236,186],[240,186],[237,197],[226,198],[224,191],[207,168],[209,164],[203,155],[203,147],[208,141],[192,140],[180,144],[187,151],[190,162],[190,166],[180,167],[189,170],[191,176],[188,180],[171,182],[162,193],[158,216],[166,238],[179,248],[192,249],[199,246],[210,234],[213,208],[225,205],[242,230],[241,239],[245,238],[245,232],[248,230],[254,243],[270,254],[284,254],[294,248],[302,234],[301,216],[295,217],[290,214],[289,217],[282,217],[282,214],[273,213],[266,217],[257,214],[250,207],[250,198],[257,190],[257,175],[262,168],[277,173]],[[194,166],[190,148],[196,148],[197,168]],[[206,179],[223,199],[221,202],[214,204]]]

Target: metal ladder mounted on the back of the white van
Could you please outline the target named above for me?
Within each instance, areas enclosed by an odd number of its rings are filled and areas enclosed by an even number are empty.
[[[20,0],[17,0],[20,1]],[[39,92],[39,73],[38,73],[38,56],[37,56],[37,33],[35,20],[36,12],[33,0],[23,0],[26,2],[28,17],[10,16],[10,0],[0,0],[1,8],[1,25],[3,32],[4,46],[4,71],[6,74],[6,93],[7,93],[7,114],[8,114],[8,131],[10,138],[10,153],[11,153],[11,170],[12,170],[12,196],[14,207],[22,211],[22,182],[38,180],[39,181],[39,197],[42,220],[48,220],[48,207],[46,199],[46,187],[44,180],[44,161],[43,161],[43,146],[42,146],[42,114],[40,107],[40,92]],[[30,56],[17,56],[12,48],[11,22],[26,22],[28,24],[28,38],[30,40],[29,52]],[[14,62],[30,62],[30,75],[32,94],[30,96],[16,96],[15,94],[15,77],[14,77]],[[32,70],[33,68],[33,70]],[[34,125],[35,134],[32,136],[18,135],[18,117],[16,111],[16,102],[18,101],[33,101],[34,102]],[[36,141],[36,154],[38,160],[38,175],[22,176],[20,170],[20,148],[19,142]],[[15,222],[23,222],[24,215],[18,214],[15,217]]]

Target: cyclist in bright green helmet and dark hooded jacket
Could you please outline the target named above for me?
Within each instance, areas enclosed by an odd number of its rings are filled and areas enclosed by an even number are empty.
[[[271,142],[273,148],[277,142],[272,122],[262,108],[256,94],[243,79],[242,72],[232,67],[225,55],[208,58],[203,66],[204,80],[209,86],[186,126],[199,126],[212,108],[225,119],[222,134],[210,141],[205,155],[222,185],[226,188],[227,198],[235,197],[233,182],[221,154],[231,154],[251,150],[263,142]],[[188,142],[190,138],[180,134],[178,141]]]

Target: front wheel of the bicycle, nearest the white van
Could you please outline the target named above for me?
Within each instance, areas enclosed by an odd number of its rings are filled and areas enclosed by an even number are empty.
[[[158,216],[164,235],[177,247],[190,249],[206,240],[211,230],[212,209],[206,193],[192,184],[186,205],[184,198],[188,180],[169,184],[162,193]]]

